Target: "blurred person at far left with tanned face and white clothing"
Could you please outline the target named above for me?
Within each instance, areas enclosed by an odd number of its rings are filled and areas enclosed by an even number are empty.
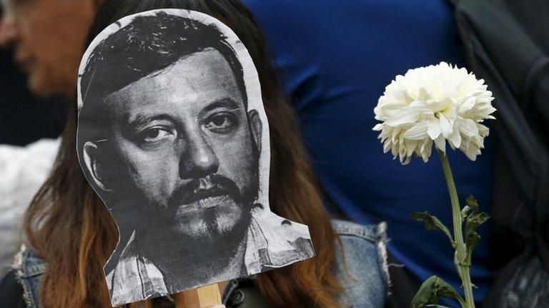
[[[0,0],[0,277],[19,249],[22,214],[54,162],[56,108],[62,115],[74,96],[86,33],[101,2]],[[11,53],[41,100],[21,84]]]

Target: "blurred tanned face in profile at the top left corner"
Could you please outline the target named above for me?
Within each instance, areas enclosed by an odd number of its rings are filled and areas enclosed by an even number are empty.
[[[102,0],[3,1],[11,1],[13,16],[2,19],[3,30],[9,31],[0,36],[0,46],[14,46],[30,90],[37,96],[70,96],[86,34]]]

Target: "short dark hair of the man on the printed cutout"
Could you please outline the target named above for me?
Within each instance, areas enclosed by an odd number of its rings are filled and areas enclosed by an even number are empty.
[[[105,118],[94,113],[103,110],[97,105],[109,94],[207,48],[219,51],[229,63],[247,108],[242,64],[217,26],[159,12],[135,17],[95,46],[81,75],[80,120]]]

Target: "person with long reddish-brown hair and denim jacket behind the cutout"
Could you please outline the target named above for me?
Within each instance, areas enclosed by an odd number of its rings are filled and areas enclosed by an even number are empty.
[[[316,256],[310,260],[253,279],[232,280],[224,294],[227,308],[382,307],[387,290],[385,225],[330,221],[295,114],[264,50],[266,42],[252,14],[239,1],[107,1],[97,13],[89,41],[123,16],[162,8],[214,16],[247,47],[269,119],[270,207],[277,215],[308,225],[315,245]],[[69,108],[67,119],[54,171],[26,211],[29,249],[21,250],[15,270],[0,286],[0,302],[7,307],[110,307],[103,266],[117,244],[118,230],[79,166],[76,106]],[[189,307],[186,297],[174,294],[130,306]]]

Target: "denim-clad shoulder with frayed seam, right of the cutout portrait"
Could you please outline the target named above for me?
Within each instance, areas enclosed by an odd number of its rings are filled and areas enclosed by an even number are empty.
[[[383,307],[390,284],[384,222],[359,225],[332,220],[340,237],[336,274],[342,284],[344,307]]]

